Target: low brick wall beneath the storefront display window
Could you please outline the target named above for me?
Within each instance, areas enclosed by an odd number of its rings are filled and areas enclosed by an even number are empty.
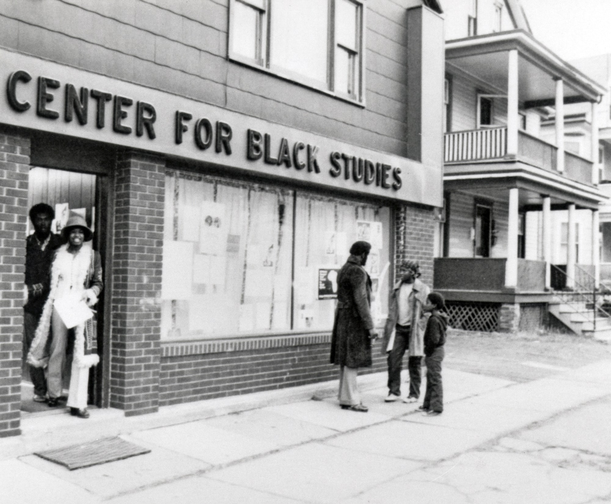
[[[372,349],[373,366],[359,374],[386,371],[386,356]],[[200,401],[262,390],[284,389],[338,378],[329,363],[329,343],[233,352],[218,352],[161,360],[159,405]]]

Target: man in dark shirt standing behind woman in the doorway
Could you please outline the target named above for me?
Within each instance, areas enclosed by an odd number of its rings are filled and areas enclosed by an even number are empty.
[[[46,203],[38,203],[30,209],[34,233],[26,238],[26,288],[27,301],[23,306],[23,336],[26,353],[32,345],[36,327],[46,298],[49,296],[51,262],[56,249],[62,244],[59,235],[51,233],[55,211]],[[43,368],[30,366],[30,379],[34,384],[34,401],[46,402],[46,379]]]

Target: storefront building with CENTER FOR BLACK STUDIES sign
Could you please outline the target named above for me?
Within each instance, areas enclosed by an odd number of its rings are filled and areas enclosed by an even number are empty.
[[[126,415],[334,379],[334,279],[357,239],[378,321],[401,260],[432,282],[435,0],[3,1],[0,27],[0,437],[28,390],[32,203],[94,228],[90,403]]]

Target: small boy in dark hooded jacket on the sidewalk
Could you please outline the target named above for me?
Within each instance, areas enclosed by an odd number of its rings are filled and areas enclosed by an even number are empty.
[[[424,333],[424,354],[426,363],[426,393],[420,409],[426,415],[434,416],[444,411],[444,389],[441,383],[441,361],[444,360],[445,330],[448,315],[445,313],[444,296],[431,292],[423,308],[431,311]]]

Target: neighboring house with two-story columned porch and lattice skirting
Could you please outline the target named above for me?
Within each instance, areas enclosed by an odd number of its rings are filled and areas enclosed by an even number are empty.
[[[434,288],[466,329],[547,326],[555,291],[598,277],[592,229],[606,200],[598,149],[592,159],[583,142],[576,153],[565,120],[550,135],[549,111],[563,118],[580,103],[597,113],[605,88],[538,42],[518,1],[447,4]]]

